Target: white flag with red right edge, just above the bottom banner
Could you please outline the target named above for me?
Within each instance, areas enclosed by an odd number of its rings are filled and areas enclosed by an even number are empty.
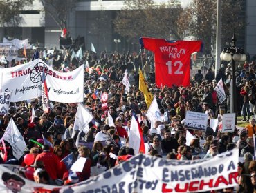
[[[138,118],[136,117],[136,115],[133,115],[131,118],[129,147],[134,149],[134,154],[145,154],[143,130],[140,128],[140,123],[138,123]]]

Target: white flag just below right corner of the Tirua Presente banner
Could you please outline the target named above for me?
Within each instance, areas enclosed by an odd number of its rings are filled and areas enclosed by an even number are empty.
[[[87,126],[92,119],[93,115],[91,112],[89,112],[82,103],[78,103],[72,137],[75,136],[75,130],[79,130],[80,132],[84,131],[85,133],[88,132],[89,127]]]

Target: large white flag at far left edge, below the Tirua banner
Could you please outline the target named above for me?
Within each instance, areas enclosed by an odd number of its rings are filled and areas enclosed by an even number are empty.
[[[26,148],[26,142],[12,118],[10,119],[6,132],[4,132],[0,141],[2,140],[7,141],[12,146],[13,156],[15,156],[16,159],[20,159]]]

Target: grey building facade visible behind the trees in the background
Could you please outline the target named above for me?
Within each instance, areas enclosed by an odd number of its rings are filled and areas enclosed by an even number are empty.
[[[156,0],[156,3],[167,0]],[[192,0],[181,0],[188,3]],[[223,0],[221,0],[223,1]],[[75,9],[69,13],[68,30],[71,37],[84,37],[86,50],[91,50],[91,43],[100,52],[107,50],[112,52],[118,50],[139,50],[138,42],[130,43],[127,39],[120,37],[113,30],[113,19],[118,11],[122,10],[125,1],[119,0],[79,0]],[[242,10],[239,17],[244,17],[245,28],[237,32],[237,46],[244,48],[250,57],[256,57],[256,1],[241,0]],[[29,6],[21,12],[22,22],[19,27],[0,27],[0,40],[13,37],[26,39],[30,42],[46,48],[59,48],[60,27],[55,21],[43,11],[39,0],[35,0],[33,6]],[[230,30],[232,26],[230,26]],[[11,33],[10,33],[11,32]]]

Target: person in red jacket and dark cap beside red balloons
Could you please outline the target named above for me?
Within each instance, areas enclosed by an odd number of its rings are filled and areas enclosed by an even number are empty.
[[[60,159],[57,158],[55,154],[50,152],[49,145],[43,145],[43,152],[38,154],[35,158],[35,161],[42,161],[44,163],[44,169],[49,174],[51,179],[56,180],[58,176],[58,172],[60,171]]]

